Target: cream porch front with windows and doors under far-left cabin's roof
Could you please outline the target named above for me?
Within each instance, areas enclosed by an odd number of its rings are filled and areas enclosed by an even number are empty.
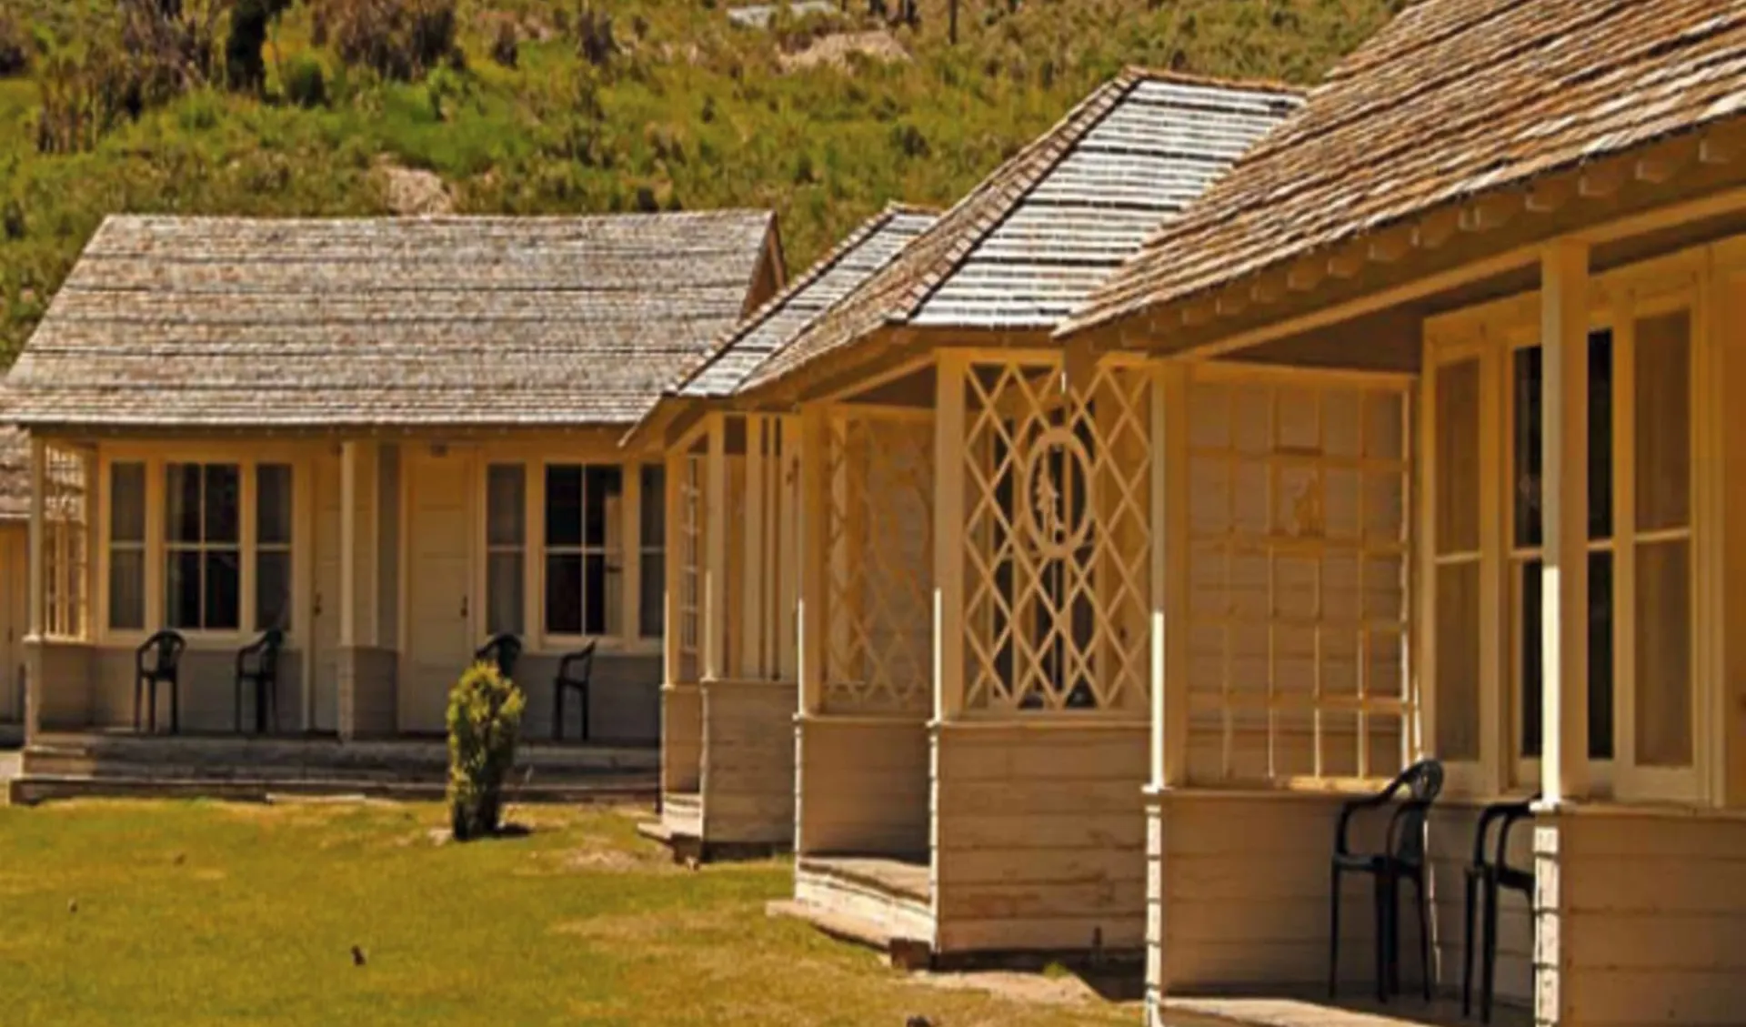
[[[183,735],[436,739],[475,650],[513,634],[524,737],[560,737],[559,664],[594,644],[588,688],[564,697],[562,741],[651,749],[662,473],[604,428],[38,431],[30,741],[133,732],[136,650],[159,631],[187,643],[175,683]],[[61,496],[72,489],[77,503]],[[237,653],[269,631],[283,632],[283,650],[257,709],[260,692],[237,685]],[[138,713],[148,732],[154,711]],[[161,683],[155,730],[169,734],[171,721]]]

